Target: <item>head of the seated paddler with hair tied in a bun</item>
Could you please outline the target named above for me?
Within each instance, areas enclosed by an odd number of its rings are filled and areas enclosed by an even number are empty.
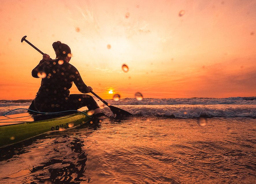
[[[53,42],[53,49],[56,53],[56,59],[62,59],[69,62],[71,59],[71,49],[68,45],[61,43],[60,41]]]

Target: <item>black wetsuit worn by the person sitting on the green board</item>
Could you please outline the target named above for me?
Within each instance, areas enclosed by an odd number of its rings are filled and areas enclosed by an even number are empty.
[[[73,82],[81,93],[90,93],[78,70],[65,60],[41,60],[32,70],[32,76],[39,78],[41,86],[34,99],[34,107],[39,112],[60,112],[77,110],[87,106],[89,110],[99,108],[90,95],[69,94]],[[30,106],[31,110],[33,107]]]

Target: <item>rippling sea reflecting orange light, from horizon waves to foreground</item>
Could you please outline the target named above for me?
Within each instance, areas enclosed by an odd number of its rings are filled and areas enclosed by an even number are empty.
[[[256,97],[107,101],[134,116],[0,149],[0,183],[256,183]]]

